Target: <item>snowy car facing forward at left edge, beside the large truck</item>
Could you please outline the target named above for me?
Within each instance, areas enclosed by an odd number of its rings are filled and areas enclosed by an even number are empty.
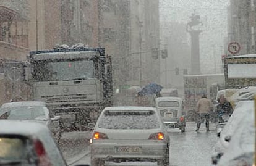
[[[45,124],[53,133],[56,141],[61,139],[59,116],[54,114],[41,101],[8,102],[0,107],[0,118],[8,120],[24,120]]]

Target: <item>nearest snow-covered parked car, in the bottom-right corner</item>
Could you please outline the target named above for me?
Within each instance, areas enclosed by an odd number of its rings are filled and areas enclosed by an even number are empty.
[[[254,108],[252,109],[254,110]],[[246,112],[236,132],[231,136],[228,148],[218,162],[219,166],[254,165],[255,112]]]

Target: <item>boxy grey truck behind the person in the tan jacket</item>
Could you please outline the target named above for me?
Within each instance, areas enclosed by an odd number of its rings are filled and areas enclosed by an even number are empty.
[[[224,74],[184,75],[184,110],[191,120],[194,119],[195,107],[202,94],[208,99],[215,99],[218,90],[224,88]]]

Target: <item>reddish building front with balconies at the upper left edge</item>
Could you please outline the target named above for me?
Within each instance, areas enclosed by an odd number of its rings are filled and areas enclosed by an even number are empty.
[[[0,6],[0,58],[24,59],[28,54],[28,20]]]

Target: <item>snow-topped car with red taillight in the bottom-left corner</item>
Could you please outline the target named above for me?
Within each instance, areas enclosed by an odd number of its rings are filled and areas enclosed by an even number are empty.
[[[67,165],[49,129],[40,123],[0,120],[0,165]]]

